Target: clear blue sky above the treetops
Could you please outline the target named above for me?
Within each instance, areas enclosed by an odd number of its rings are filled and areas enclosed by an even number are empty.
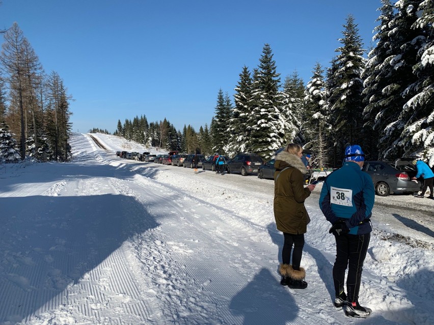
[[[47,73],[74,101],[73,131],[114,132],[118,120],[165,117],[177,130],[210,124],[220,88],[231,96],[244,65],[270,44],[282,81],[328,67],[345,18],[372,44],[380,0],[2,0]],[[3,40],[2,40],[3,43]]]

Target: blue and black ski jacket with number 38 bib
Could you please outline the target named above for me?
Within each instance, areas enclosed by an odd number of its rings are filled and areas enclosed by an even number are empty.
[[[368,221],[374,201],[371,177],[355,162],[346,161],[325,179],[319,208],[330,223],[344,221],[350,234],[365,234],[372,231]]]

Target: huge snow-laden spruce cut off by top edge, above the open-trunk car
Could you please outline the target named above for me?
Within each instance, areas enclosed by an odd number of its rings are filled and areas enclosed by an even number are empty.
[[[417,63],[416,55],[422,40],[412,25],[417,19],[418,3],[420,1],[398,1],[395,4],[398,12],[391,20],[390,14],[381,16],[386,19],[384,29],[387,34],[383,36],[385,42],[382,45],[388,54],[383,62],[378,62],[377,68],[383,70],[377,78],[382,78],[386,84],[379,83],[381,94],[374,98],[383,108],[375,116],[375,125],[382,132],[378,141],[381,159],[393,160],[404,154],[398,146],[398,139],[405,122],[399,116],[404,104],[410,99],[404,95],[404,91],[417,80],[412,67]],[[389,9],[386,7],[385,10]]]

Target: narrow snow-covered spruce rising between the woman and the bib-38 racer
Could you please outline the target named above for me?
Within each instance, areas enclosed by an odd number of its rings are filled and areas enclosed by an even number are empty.
[[[313,76],[306,86],[305,91],[305,115],[303,126],[309,142],[307,149],[315,153],[311,158],[311,165],[318,168],[329,167],[330,149],[327,138],[331,125],[329,119],[329,106],[325,93],[324,69],[316,63]]]

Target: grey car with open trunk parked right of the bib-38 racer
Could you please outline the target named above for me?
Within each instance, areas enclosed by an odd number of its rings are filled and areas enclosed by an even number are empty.
[[[415,193],[420,190],[421,182],[413,181],[416,170],[410,165],[398,165],[396,162],[365,161],[362,168],[374,183],[375,193],[388,196],[393,193]]]

